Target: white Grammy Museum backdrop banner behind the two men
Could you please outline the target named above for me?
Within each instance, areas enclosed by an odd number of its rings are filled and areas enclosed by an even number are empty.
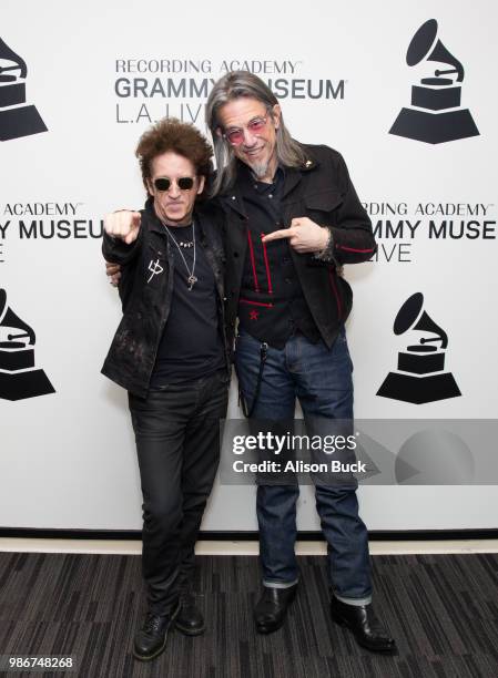
[[[491,0],[3,0],[1,526],[141,528],[126,393],[100,374],[121,316],[103,215],[143,204],[142,132],[166,115],[205,132],[234,69],[344,155],[373,220],[375,259],[345,268],[356,417],[395,468],[360,486],[368,527],[498,526],[497,20]],[[318,528],[309,486],[298,520]],[[255,527],[254,487],[218,480],[203,528]]]

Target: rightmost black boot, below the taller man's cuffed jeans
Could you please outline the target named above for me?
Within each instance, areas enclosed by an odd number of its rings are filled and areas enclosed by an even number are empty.
[[[331,613],[334,622],[346,626],[362,647],[374,653],[396,653],[396,643],[382,627],[370,604],[347,605],[332,594]]]

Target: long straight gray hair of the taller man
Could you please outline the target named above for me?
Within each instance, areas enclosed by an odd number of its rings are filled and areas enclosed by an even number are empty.
[[[214,156],[216,158],[216,177],[212,194],[230,188],[236,177],[236,157],[230,143],[220,136],[220,109],[235,99],[246,96],[261,101],[273,119],[273,106],[278,103],[272,90],[256,75],[248,71],[231,71],[223,75],[214,85],[206,103],[206,125],[213,136]],[[301,145],[292,138],[281,115],[276,131],[276,154],[278,162],[285,167],[301,167],[306,161],[306,154]]]

